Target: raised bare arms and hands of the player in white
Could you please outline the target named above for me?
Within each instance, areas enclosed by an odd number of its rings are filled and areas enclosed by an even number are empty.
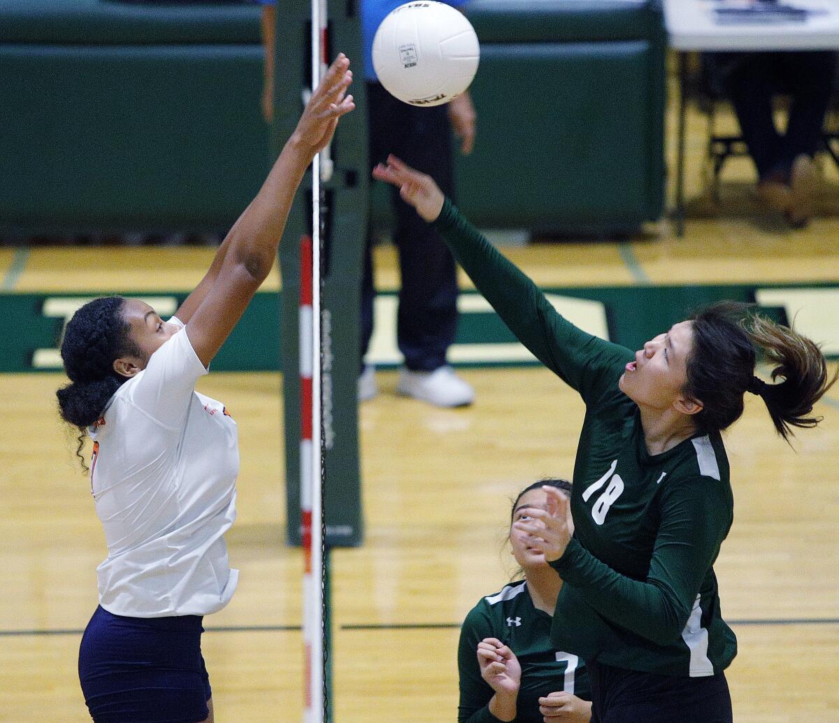
[[[347,95],[352,81],[349,65],[342,53],[332,63],[256,198],[239,216],[206,277],[178,311],[205,367],[268,277],[305,170],[331,140],[338,119],[355,107]]]

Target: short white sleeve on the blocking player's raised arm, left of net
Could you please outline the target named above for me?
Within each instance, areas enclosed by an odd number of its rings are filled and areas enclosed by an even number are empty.
[[[195,354],[185,326],[174,316],[170,322],[179,325],[180,331],[149,357],[127,391],[130,403],[143,414],[166,428],[179,429],[189,411],[195,382],[208,370]]]

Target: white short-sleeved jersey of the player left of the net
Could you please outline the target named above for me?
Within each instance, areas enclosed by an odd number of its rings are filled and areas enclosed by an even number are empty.
[[[237,428],[221,403],[195,392],[206,373],[181,328],[89,429],[108,548],[96,569],[99,603],[115,615],[206,615],[236,589],[223,535],[236,518]]]

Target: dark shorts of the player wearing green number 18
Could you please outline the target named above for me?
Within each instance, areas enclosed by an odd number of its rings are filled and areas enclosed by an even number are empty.
[[[586,670],[591,723],[732,723],[725,674],[680,678],[591,662]]]

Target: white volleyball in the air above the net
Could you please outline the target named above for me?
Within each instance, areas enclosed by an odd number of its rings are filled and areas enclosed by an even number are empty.
[[[433,0],[400,5],[378,26],[373,68],[392,96],[440,106],[470,86],[481,49],[463,13]]]

